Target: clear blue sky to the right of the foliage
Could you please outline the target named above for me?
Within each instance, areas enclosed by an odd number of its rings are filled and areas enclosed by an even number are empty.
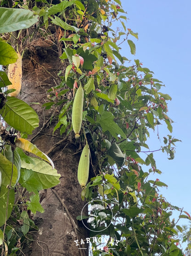
[[[190,0],[122,0],[123,9],[128,12],[127,28],[138,32],[139,40],[135,42],[136,55],[127,51],[127,45],[122,45],[122,54],[128,59],[139,59],[143,67],[152,70],[155,78],[163,81],[165,87],[161,92],[172,97],[169,101],[169,117],[174,120],[173,137],[182,143],[176,143],[174,160],[168,160],[165,153],[157,152],[154,157],[157,168],[163,173],[156,178],[168,185],[161,189],[161,194],[167,200],[191,214],[190,187],[190,74],[191,74],[191,20]],[[165,126],[159,126],[152,135],[150,149],[160,148],[163,136],[170,134]],[[153,177],[154,179],[155,177]],[[175,218],[177,214],[173,215]],[[180,222],[188,224],[188,221]]]

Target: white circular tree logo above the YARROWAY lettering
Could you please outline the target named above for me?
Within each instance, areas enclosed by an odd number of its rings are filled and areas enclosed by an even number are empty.
[[[88,211],[87,224],[83,221],[83,216]],[[84,212],[84,214],[83,214]],[[81,211],[81,220],[84,226],[90,231],[100,232],[107,229],[113,219],[111,206],[102,200],[92,200],[86,203]],[[89,224],[89,227],[87,226]]]

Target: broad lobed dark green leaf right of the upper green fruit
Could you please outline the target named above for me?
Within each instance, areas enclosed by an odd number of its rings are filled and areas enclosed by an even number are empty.
[[[121,128],[113,121],[113,119],[114,116],[111,112],[104,111],[101,114],[101,120],[98,123],[101,125],[103,132],[109,131],[116,139],[118,139],[118,135],[126,138],[124,131],[121,130]]]

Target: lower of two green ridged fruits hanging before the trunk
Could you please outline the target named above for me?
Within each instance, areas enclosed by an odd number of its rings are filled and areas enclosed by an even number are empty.
[[[78,165],[78,181],[82,189],[85,188],[85,185],[88,181],[90,168],[90,148],[86,142],[82,154],[80,156],[79,165]]]

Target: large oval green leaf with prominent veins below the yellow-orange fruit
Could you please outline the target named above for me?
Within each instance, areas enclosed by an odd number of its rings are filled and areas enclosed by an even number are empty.
[[[34,109],[15,97],[7,97],[0,114],[9,125],[23,133],[32,134],[39,126],[39,118]]]

